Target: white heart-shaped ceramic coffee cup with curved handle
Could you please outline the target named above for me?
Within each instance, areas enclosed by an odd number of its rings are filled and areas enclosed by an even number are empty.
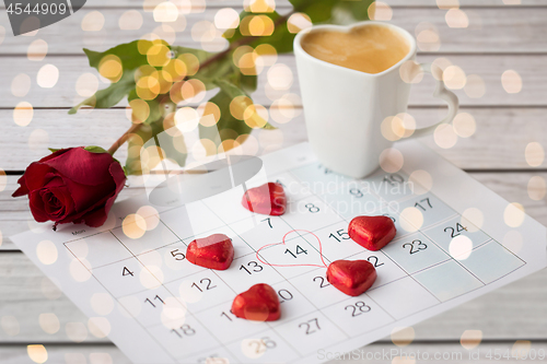
[[[310,32],[349,32],[352,27],[369,25],[387,26],[403,35],[410,45],[408,55],[389,69],[371,74],[323,61],[302,49],[302,38]],[[416,40],[398,26],[374,21],[349,27],[316,25],[296,35],[294,55],[311,148],[323,165],[336,173],[362,178],[380,166],[382,152],[393,144],[393,139],[388,140],[382,133],[381,126],[387,117],[407,110],[411,86],[408,78],[412,77],[408,72],[421,69],[433,73],[437,79],[433,96],[449,105],[443,120],[416,129],[410,138],[431,133],[439,125],[451,122],[456,116],[458,101],[445,89],[442,70],[431,64],[406,64],[416,58]],[[401,69],[403,64],[406,66]]]

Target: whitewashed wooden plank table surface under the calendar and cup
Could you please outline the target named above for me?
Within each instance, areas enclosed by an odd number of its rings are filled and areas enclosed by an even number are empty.
[[[88,318],[11,243],[10,235],[28,230],[35,223],[27,200],[10,196],[24,168],[47,154],[46,148],[82,144],[107,148],[128,128],[127,102],[112,109],[75,116],[69,116],[67,110],[82,99],[75,89],[79,77],[88,72],[97,75],[88,66],[82,47],[103,50],[146,33],[159,32],[160,24],[150,12],[150,7],[158,1],[144,2],[149,8],[143,9],[141,0],[88,1],[82,10],[58,24],[39,30],[33,36],[19,37],[11,36],[8,16],[0,11],[0,173],[4,171],[0,174],[1,363],[32,363],[28,344],[44,344],[48,363],[128,363],[108,339],[90,330]],[[172,34],[176,35],[175,45],[199,46],[191,31],[207,23],[198,22],[212,22],[222,8],[240,10],[243,0],[191,2],[198,12],[181,16],[176,25],[179,32]],[[461,101],[461,113],[468,113],[476,121],[475,132],[467,138],[457,137],[452,146],[446,145],[446,140],[433,137],[423,138],[422,142],[508,201],[522,204],[526,213],[546,225],[547,1],[459,0],[459,10],[440,9],[457,2],[384,0],[388,8],[384,7],[382,16],[391,17],[392,23],[408,30],[419,40],[430,42],[419,43],[419,61],[457,67],[452,68],[456,77],[451,84],[458,87],[454,91]],[[280,13],[289,9],[287,1],[277,1]],[[119,30],[118,21],[128,11],[142,15],[139,30]],[[81,23],[85,16],[104,19],[103,27],[83,31]],[[28,59],[30,45],[37,39],[47,44],[47,56]],[[37,83],[38,70],[45,64],[54,64],[59,70],[53,89]],[[264,69],[254,99],[266,107],[287,93],[300,93],[293,56],[280,56],[277,64],[286,64],[286,70],[291,71],[286,75],[292,78],[291,86],[272,92],[268,85],[268,68]],[[513,73],[507,73],[508,70]],[[26,94],[25,80],[30,81]],[[98,83],[100,87],[105,86]],[[435,121],[444,111],[431,97],[432,90],[433,81],[428,78],[414,85],[409,114],[419,125]],[[13,109],[21,102],[30,103],[34,109],[27,126],[20,126],[13,119]],[[294,97],[294,106],[295,116],[290,121],[270,120],[278,130],[253,132],[260,145],[259,153],[306,140],[298,97]],[[118,153],[119,158],[125,158],[125,151]],[[126,188],[119,199],[140,192],[142,189],[137,187]],[[492,354],[494,350],[504,353],[513,348],[547,350],[546,279],[547,271],[540,271],[416,325],[414,341],[404,349],[431,353],[431,362],[456,363],[462,360],[452,353],[462,353],[468,359],[465,339],[470,334],[481,337],[477,362],[491,362],[487,357],[490,350]],[[385,338],[365,350],[381,352],[394,348],[397,347],[391,338]],[[433,360],[435,352],[452,355],[447,355],[451,357],[447,360]]]

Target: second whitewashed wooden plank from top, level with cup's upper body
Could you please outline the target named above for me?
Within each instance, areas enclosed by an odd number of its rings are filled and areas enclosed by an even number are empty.
[[[421,55],[418,56],[418,61],[430,63],[440,57],[459,67],[467,75],[473,74],[473,78],[478,75],[482,80],[482,86],[477,84],[476,81],[469,81],[464,89],[454,91],[463,106],[547,105],[547,98],[544,97],[547,92],[547,72],[544,71],[547,55]],[[59,80],[53,89],[44,89],[36,83],[38,70],[44,66],[44,62],[54,64],[59,69]],[[98,81],[98,72],[89,67],[83,55],[82,57],[49,56],[44,62],[31,61],[26,57],[0,57],[0,80],[3,80],[7,84],[5,87],[0,90],[0,107],[15,107],[20,102],[24,101],[31,103],[33,107],[70,108],[84,98],[77,93],[77,81],[83,73],[95,75],[95,87],[104,89],[107,86],[106,83]],[[276,97],[280,97],[286,93],[300,95],[294,57],[292,55],[282,55],[278,58],[277,64],[289,67],[292,72],[292,85],[288,90],[274,93],[267,91],[267,87],[271,90],[267,75],[271,67],[266,67],[258,77],[258,87],[253,94],[255,103],[270,105]],[[522,79],[522,91],[519,93],[510,94],[502,86],[501,75],[509,69],[516,71]],[[13,80],[21,78],[21,73],[30,77],[31,87],[25,96],[16,97],[14,92],[16,94],[18,87],[21,87],[21,85],[13,83]],[[473,79],[469,78],[469,80]],[[412,85],[410,105],[443,105],[442,101],[432,97],[434,83],[432,77],[424,75],[420,83]],[[484,87],[482,92],[480,92],[480,87]],[[209,92],[207,98],[216,92]],[[301,105],[300,102],[296,102],[296,105]],[[127,106],[127,99],[124,98],[119,106]]]

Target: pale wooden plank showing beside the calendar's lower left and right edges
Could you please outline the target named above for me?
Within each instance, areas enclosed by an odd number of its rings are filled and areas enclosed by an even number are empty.
[[[43,273],[23,254],[0,254],[0,317],[12,316],[19,322],[19,332],[14,336],[0,330],[0,340],[3,343],[71,342],[71,336],[67,331],[68,322],[80,322],[88,327],[88,318],[65,295],[51,297],[55,290],[51,290],[47,279],[44,283]],[[458,340],[465,330],[470,329],[481,330],[485,340],[545,340],[546,279],[547,270],[543,270],[420,322],[415,326],[416,340]],[[48,297],[55,300],[47,298],[44,291]],[[40,314],[55,314],[59,330],[54,332],[56,325],[49,325],[45,327],[51,333],[46,333],[39,325]],[[105,341],[106,339],[96,338],[89,330],[84,340]]]

